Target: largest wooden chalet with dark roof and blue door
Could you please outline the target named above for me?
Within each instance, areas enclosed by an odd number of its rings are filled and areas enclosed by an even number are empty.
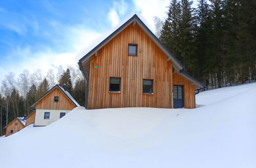
[[[86,108],[195,108],[204,85],[137,15],[127,20],[78,65],[86,78]]]

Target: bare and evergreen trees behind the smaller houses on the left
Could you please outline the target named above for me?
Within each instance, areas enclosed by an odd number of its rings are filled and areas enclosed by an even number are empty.
[[[34,110],[31,105],[56,84],[66,84],[67,91],[83,106],[85,81],[78,66],[68,66],[66,70],[59,66],[57,75],[53,69],[46,76],[40,69],[33,74],[24,70],[17,79],[13,72],[6,75],[0,86],[0,135],[16,117],[29,115]]]

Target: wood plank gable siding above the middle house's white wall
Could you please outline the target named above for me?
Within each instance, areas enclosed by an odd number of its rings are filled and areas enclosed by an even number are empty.
[[[58,96],[58,102],[54,102],[54,97]],[[72,110],[75,108],[75,105],[67,98],[63,92],[58,88],[53,89],[48,93],[44,98],[42,98],[35,105],[36,109],[59,109],[59,110]]]

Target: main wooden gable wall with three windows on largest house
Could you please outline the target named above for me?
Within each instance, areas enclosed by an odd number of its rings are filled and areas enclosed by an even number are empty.
[[[127,55],[130,43],[138,44],[138,56]],[[138,24],[130,24],[91,57],[88,108],[172,108],[172,61],[166,59]],[[110,77],[121,77],[120,93],[109,93]],[[142,94],[142,79],[154,79],[154,94]]]

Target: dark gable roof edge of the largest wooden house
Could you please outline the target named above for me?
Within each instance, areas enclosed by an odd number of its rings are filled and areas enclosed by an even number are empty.
[[[167,55],[167,61],[172,60],[173,67],[178,70],[178,73],[183,74],[182,76],[188,79],[189,81],[193,82],[194,85],[198,86],[199,88],[204,88],[205,86],[195,79],[194,77],[188,75],[184,71],[184,66],[179,62],[179,60],[174,56],[172,52],[170,52],[163,43],[154,35],[154,33],[151,32],[150,29],[141,21],[141,19],[135,14],[133,17],[131,17],[129,20],[127,20],[124,24],[122,24],[116,31],[114,31],[110,36],[105,38],[101,43],[99,43],[96,47],[94,47],[91,51],[89,51],[86,55],[84,55],[78,62],[79,67],[81,64],[88,59],[92,57],[93,54],[95,54],[101,47],[103,47],[106,43],[111,41],[116,35],[118,35],[120,32],[122,32],[127,26],[129,26],[131,23],[136,23],[140,26],[140,28],[149,36],[151,39],[155,42],[155,44]],[[80,67],[81,68],[81,67]]]

